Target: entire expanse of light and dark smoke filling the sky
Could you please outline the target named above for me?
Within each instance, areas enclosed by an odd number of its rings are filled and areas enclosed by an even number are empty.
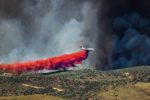
[[[0,0],[0,61],[95,48],[89,65],[150,65],[149,0]]]

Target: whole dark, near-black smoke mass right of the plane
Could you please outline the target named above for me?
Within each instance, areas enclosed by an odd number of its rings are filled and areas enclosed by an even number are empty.
[[[99,69],[150,65],[149,4],[149,0],[102,2],[97,41]]]

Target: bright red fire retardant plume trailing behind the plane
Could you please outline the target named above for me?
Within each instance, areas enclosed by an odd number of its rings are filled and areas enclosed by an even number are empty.
[[[61,56],[41,59],[36,61],[18,62],[12,64],[0,64],[0,70],[11,73],[22,73],[28,71],[38,71],[42,69],[59,69],[74,66],[82,63],[87,58],[88,51],[81,50],[79,52],[64,54]]]

